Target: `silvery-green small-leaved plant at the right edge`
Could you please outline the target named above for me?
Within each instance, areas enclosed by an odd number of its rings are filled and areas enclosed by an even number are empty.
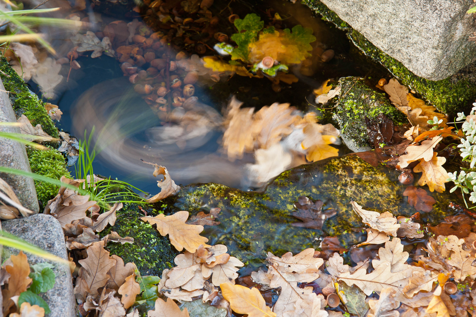
[[[476,111],[476,102],[473,103],[473,108],[466,116],[464,113],[459,112],[456,122],[463,122],[461,130],[463,131],[463,137],[461,138],[461,144],[458,144],[460,155],[463,161],[469,162],[469,169],[461,168],[461,171],[455,173],[448,173],[447,182],[455,183],[455,187],[450,189],[449,192],[454,192],[460,188],[463,194],[469,194],[469,201],[476,203],[476,122],[474,118]],[[473,117],[474,116],[474,117]],[[466,203],[466,200],[465,200]],[[467,207],[467,204],[466,204]]]

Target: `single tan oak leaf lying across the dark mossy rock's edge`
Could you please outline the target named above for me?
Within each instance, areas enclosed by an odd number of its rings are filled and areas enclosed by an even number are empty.
[[[140,219],[150,224],[157,225],[157,231],[162,236],[169,235],[170,243],[181,251],[185,248],[190,253],[194,253],[200,244],[205,248],[211,247],[205,242],[208,239],[200,236],[203,231],[203,226],[186,224],[188,218],[188,211],[178,211],[170,216],[159,214],[155,217],[141,217]]]

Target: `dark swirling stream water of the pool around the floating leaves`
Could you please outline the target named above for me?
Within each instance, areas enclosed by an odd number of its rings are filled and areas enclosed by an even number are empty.
[[[116,3],[108,8],[104,10],[103,7],[96,6],[90,10],[89,16],[94,12],[101,14],[103,22],[122,20],[128,23],[137,19],[151,24],[147,13],[144,21],[141,19],[143,16],[130,10],[131,2]],[[267,78],[234,75],[222,78],[213,86],[199,80],[195,84],[194,96],[198,97],[199,106],[207,113],[209,122],[200,127],[186,125],[185,129],[190,131],[182,133],[183,138],[180,139],[171,135],[178,133],[174,130],[177,126],[164,123],[141,95],[134,91],[134,84],[129,82],[121,70],[122,62],[105,54],[99,58],[79,54],[77,62],[81,68],[68,71],[68,67],[63,67],[60,74],[64,73],[63,76],[69,77],[68,82],[57,87],[57,97],[49,102],[58,105],[63,112],[58,124],[60,129],[84,140],[85,131],[89,134],[94,128],[93,142],[98,152],[94,161],[94,173],[117,177],[155,193],[158,190],[156,179],[152,176],[150,165],[140,161],[142,158],[166,166],[178,184],[214,182],[243,190],[258,188],[263,182],[258,182],[247,169],[247,164],[254,163],[253,154],[245,154],[242,159],[230,161],[221,147],[223,129],[219,122],[223,120],[221,115],[232,96],[242,101],[243,107],[255,107],[256,110],[278,102],[290,103],[303,112],[316,111],[312,90],[321,86],[326,79],[343,76],[377,78],[387,74],[383,67],[370,63],[362,56],[342,31],[314,17],[304,5],[280,0],[229,3],[216,0],[210,10],[219,18],[214,29],[228,35],[234,32],[233,25],[228,21],[228,16],[232,13],[241,18],[248,13],[256,13],[266,24],[272,21],[270,18],[275,17],[276,13],[282,19],[279,22],[283,29],[297,24],[311,28],[317,38],[311,43],[314,54],[310,58],[312,65],[307,72],[300,72],[299,67],[290,69],[290,73],[295,74],[299,81],[291,85],[281,82],[279,92],[273,90],[273,84]],[[160,29],[152,29],[157,30]],[[53,44],[57,44],[57,47],[64,45],[60,38],[56,38]],[[179,45],[175,46],[179,48]],[[205,53],[199,56],[217,55],[210,48],[208,46]],[[321,62],[320,54],[327,49],[333,49],[335,57]],[[172,50],[171,55],[175,56],[177,52],[178,49]],[[192,53],[196,54],[196,51]],[[30,81],[30,85],[33,91],[38,91],[35,83]],[[164,133],[169,135],[168,138],[164,138]],[[349,152],[344,145],[339,148],[340,154]],[[269,165],[274,163],[269,162]],[[293,162],[288,167],[300,163],[305,161]],[[74,167],[71,168],[74,171]]]

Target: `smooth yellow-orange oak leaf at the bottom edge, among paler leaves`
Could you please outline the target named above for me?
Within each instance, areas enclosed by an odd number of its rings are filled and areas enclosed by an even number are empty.
[[[266,302],[257,288],[247,288],[230,283],[220,284],[223,297],[230,302],[231,309],[248,317],[276,317],[276,313],[266,306]]]

